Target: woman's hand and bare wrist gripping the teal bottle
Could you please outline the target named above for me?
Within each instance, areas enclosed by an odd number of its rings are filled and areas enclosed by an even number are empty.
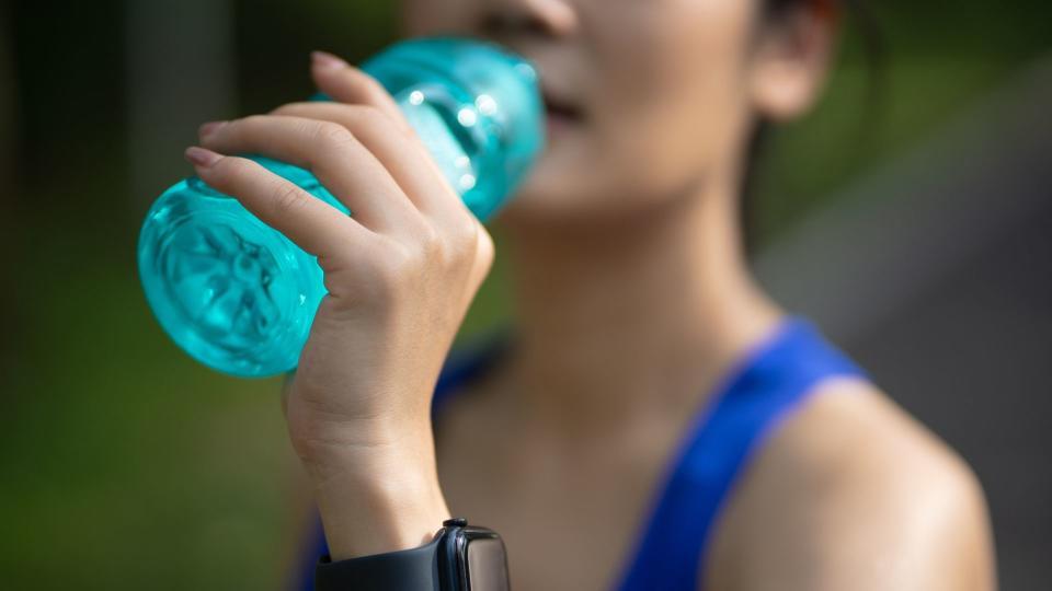
[[[311,69],[340,103],[206,124],[203,148],[186,155],[208,185],[324,270],[329,294],[288,385],[286,416],[341,559],[420,545],[448,517],[431,397],[493,245],[375,80],[327,54]],[[239,153],[309,169],[353,218],[222,155]]]

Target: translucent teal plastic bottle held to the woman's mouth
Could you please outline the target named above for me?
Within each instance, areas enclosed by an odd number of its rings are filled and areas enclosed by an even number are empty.
[[[504,204],[542,148],[536,71],[500,47],[411,39],[362,68],[391,93],[482,221]],[[309,171],[250,158],[347,212]],[[150,208],[138,265],[164,332],[194,359],[233,375],[294,369],[325,294],[313,256],[196,176],[170,187]]]

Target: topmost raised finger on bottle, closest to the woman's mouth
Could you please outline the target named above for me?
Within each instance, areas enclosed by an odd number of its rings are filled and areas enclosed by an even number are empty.
[[[411,129],[398,103],[375,78],[325,51],[312,51],[310,59],[318,90],[341,103],[373,105],[399,128]]]

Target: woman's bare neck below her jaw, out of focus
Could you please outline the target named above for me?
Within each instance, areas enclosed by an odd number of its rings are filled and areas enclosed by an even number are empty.
[[[580,437],[704,404],[779,318],[737,227],[733,193],[714,189],[645,219],[508,224],[523,416]]]

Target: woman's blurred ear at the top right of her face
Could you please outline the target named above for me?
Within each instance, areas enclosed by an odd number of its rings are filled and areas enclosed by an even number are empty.
[[[748,84],[762,117],[782,121],[811,107],[825,84],[838,22],[832,0],[805,0],[759,24]]]

